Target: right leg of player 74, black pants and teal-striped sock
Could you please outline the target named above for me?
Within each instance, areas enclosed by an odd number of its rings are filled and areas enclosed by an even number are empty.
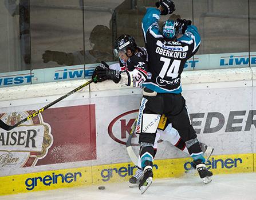
[[[211,181],[212,173],[206,168],[200,143],[196,138],[196,132],[190,122],[186,101],[182,95],[173,95],[171,101],[171,106],[167,107],[170,111],[166,116],[172,123],[172,126],[178,130],[182,140],[186,143],[188,153],[190,153],[190,156],[194,160],[200,178],[203,179],[204,183],[208,183]],[[170,102],[166,101],[165,105],[170,105]]]

